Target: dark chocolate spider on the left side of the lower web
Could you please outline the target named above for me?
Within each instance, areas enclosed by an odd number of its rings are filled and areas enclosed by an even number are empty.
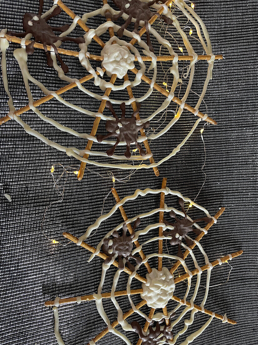
[[[105,264],[108,264],[112,258],[115,256],[115,254],[118,255],[118,268],[123,271],[125,269],[125,264],[123,263],[123,259],[126,259],[128,268],[134,272],[135,266],[133,266],[129,259],[134,259],[135,262],[139,265],[142,260],[138,256],[132,255],[132,248],[133,248],[133,240],[132,238],[135,236],[135,229],[137,226],[141,223],[140,218],[137,218],[135,221],[135,224],[132,228],[132,234],[130,236],[126,236],[127,232],[127,225],[126,223],[123,224],[123,234],[122,236],[119,236],[117,231],[114,231],[112,236],[114,238],[105,238],[104,243],[102,246],[102,251],[105,253],[108,257],[105,259]]]

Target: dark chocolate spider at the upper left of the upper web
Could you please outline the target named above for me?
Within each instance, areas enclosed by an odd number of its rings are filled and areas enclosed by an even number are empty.
[[[47,21],[49,21],[52,17],[57,16],[61,12],[61,7],[56,7],[54,11],[47,17],[41,18],[42,10],[43,10],[43,2],[44,0],[40,0],[40,7],[39,7],[39,13],[25,13],[23,16],[23,30],[25,32],[8,32],[11,36],[17,36],[17,37],[25,37],[28,33],[31,33],[34,37],[34,41],[32,41],[28,46],[26,46],[26,53],[28,55],[32,55],[34,52],[34,43],[35,42],[41,42],[44,46],[44,50],[47,56],[47,65],[50,67],[53,67],[53,60],[51,58],[50,52],[47,50],[47,46],[51,46],[55,53],[58,61],[61,64],[61,67],[64,71],[64,73],[68,73],[68,67],[65,65],[63,60],[58,54],[57,48],[55,46],[55,42],[57,41],[72,41],[75,43],[84,43],[85,40],[83,37],[78,38],[71,38],[71,37],[58,37],[54,33],[54,31],[57,32],[64,32],[69,29],[69,25],[64,25],[62,27],[52,27],[49,24],[47,24]]]

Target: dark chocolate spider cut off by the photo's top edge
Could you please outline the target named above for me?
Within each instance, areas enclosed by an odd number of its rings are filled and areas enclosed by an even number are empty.
[[[139,34],[139,25],[140,21],[144,21],[144,26],[146,28],[146,36],[147,36],[147,45],[149,46],[150,50],[154,52],[151,40],[150,40],[150,32],[149,32],[149,23],[148,21],[151,19],[152,16],[157,16],[158,18],[163,19],[167,24],[171,25],[173,21],[166,17],[161,16],[158,12],[151,12],[149,7],[157,2],[165,3],[167,0],[153,0],[148,3],[141,2],[140,0],[112,0],[114,4],[119,8],[120,12],[114,16],[110,12],[106,12],[106,18],[111,18],[112,21],[117,20],[122,16],[123,13],[128,14],[128,19],[126,22],[121,26],[118,30],[117,34],[119,37],[123,36],[123,30],[127,29],[128,25],[131,23],[132,18],[136,19],[135,28],[133,32]]]

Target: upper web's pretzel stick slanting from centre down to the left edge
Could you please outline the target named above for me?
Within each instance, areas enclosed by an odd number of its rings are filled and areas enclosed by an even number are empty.
[[[106,71],[105,68],[103,68],[102,70],[103,70],[103,72]],[[99,72],[96,72],[96,73],[97,73],[97,75],[99,75]],[[82,83],[84,83],[85,81],[90,80],[90,79],[92,79],[92,78],[94,78],[94,76],[93,76],[92,74],[89,74],[89,75],[83,77],[82,79],[79,79],[79,82],[82,84]],[[61,94],[64,93],[65,91],[71,90],[71,89],[73,89],[73,88],[76,87],[76,86],[77,86],[76,83],[71,83],[71,84],[68,84],[68,85],[62,87],[62,88],[59,89],[59,90],[56,90],[55,93],[56,93],[57,95],[61,95]],[[49,100],[52,99],[52,98],[54,98],[53,95],[47,95],[47,96],[45,96],[45,97],[43,97],[43,98],[40,98],[40,99],[34,101],[34,102],[33,102],[33,106],[34,106],[34,107],[38,107],[38,106],[40,106],[41,104],[43,104],[43,103],[49,101]],[[28,111],[28,110],[30,110],[30,106],[29,106],[29,105],[26,105],[25,107],[16,110],[16,111],[14,112],[14,115],[20,116],[21,114],[23,114],[24,112],[26,112],[26,111]],[[0,125],[3,124],[4,122],[9,121],[9,120],[11,120],[11,118],[10,118],[8,115],[2,117],[2,118],[0,119]]]

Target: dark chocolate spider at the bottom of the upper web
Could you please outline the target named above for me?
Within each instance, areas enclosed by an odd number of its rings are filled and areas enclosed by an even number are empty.
[[[106,108],[110,110],[116,121],[107,121],[106,122],[106,130],[109,132],[107,135],[97,135],[96,138],[98,142],[103,141],[106,138],[109,137],[117,137],[117,141],[111,149],[107,150],[108,156],[114,155],[115,149],[120,141],[126,142],[126,152],[125,156],[126,158],[131,157],[130,152],[130,144],[135,143],[135,145],[138,147],[140,151],[141,156],[145,156],[146,152],[143,151],[142,147],[139,145],[137,139],[138,139],[138,131],[142,128],[149,127],[149,121],[145,122],[144,124],[138,126],[136,122],[136,115],[139,113],[141,105],[140,103],[137,103],[137,109],[132,114],[131,118],[126,118],[126,103],[122,103],[120,105],[120,109],[122,110],[121,118],[119,119],[115,113],[114,108],[112,107],[111,103],[109,101],[106,102]]]

